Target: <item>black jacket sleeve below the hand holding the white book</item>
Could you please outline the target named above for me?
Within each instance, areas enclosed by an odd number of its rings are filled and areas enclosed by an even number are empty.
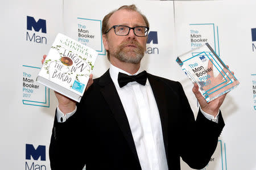
[[[85,165],[86,140],[82,131],[81,111],[60,123],[55,120],[49,145],[51,169],[82,169]]]

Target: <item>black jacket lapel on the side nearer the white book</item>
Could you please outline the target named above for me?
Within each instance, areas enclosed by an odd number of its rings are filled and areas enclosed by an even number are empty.
[[[115,89],[114,83],[110,77],[109,70],[100,77],[99,85],[101,86],[102,96],[104,96],[106,103],[108,103],[115,120],[118,122],[119,128],[123,132],[123,135],[131,148],[131,151],[139,162],[129,121],[126,117],[125,109],[123,109],[122,102],[118,96],[117,90]]]

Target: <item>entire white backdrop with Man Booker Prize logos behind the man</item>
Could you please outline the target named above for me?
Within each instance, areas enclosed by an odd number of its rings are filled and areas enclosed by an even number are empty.
[[[256,28],[256,2],[253,0],[0,2],[4,63],[0,88],[0,169],[50,169],[48,146],[57,101],[53,92],[37,84],[35,78],[42,56],[48,53],[57,33],[98,51],[93,70],[97,78],[109,67],[101,40],[101,21],[108,12],[131,3],[150,22],[152,41],[147,44],[143,69],[180,81],[195,116],[199,108],[191,91],[192,83],[175,62],[179,54],[198,45],[191,44],[191,37],[200,35],[207,39],[234,70],[241,84],[227,95],[221,107],[226,126],[212,160],[204,169],[256,169],[256,48],[253,46],[256,42],[252,40],[256,33],[251,32]],[[191,168],[181,163],[181,169]]]

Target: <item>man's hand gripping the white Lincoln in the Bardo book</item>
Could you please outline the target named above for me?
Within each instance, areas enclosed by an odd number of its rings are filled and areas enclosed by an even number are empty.
[[[43,56],[42,64],[44,63],[44,60],[46,59],[46,57],[47,57],[46,55]],[[90,78],[89,78],[88,84],[85,88],[85,91],[90,87],[90,85],[93,84],[92,77],[93,77],[93,75],[90,74]],[[55,96],[57,97],[57,100],[59,102],[59,109],[61,112],[66,114],[66,113],[70,113],[75,110],[75,108],[76,108],[75,100],[69,99],[68,97],[60,94],[59,92],[56,92],[56,91],[54,91],[54,92],[55,92]]]

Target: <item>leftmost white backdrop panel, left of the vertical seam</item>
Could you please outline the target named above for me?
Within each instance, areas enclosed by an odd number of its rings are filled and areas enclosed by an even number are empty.
[[[33,92],[26,92],[23,83],[37,84],[35,78],[42,66],[42,55],[48,53],[57,32],[63,31],[63,1],[11,0],[1,1],[0,6],[3,52],[0,169],[36,169],[41,165],[41,169],[44,166],[50,169],[48,146],[57,102],[53,92],[45,87],[39,85],[39,89],[28,88]],[[33,22],[27,22],[27,16],[36,22],[46,20],[46,24],[42,24],[46,33],[42,29],[38,32],[34,28],[28,30],[27,23]],[[24,82],[23,78],[27,81]],[[39,145],[45,146],[40,154],[46,154],[46,160],[26,159],[26,144],[35,149]]]

